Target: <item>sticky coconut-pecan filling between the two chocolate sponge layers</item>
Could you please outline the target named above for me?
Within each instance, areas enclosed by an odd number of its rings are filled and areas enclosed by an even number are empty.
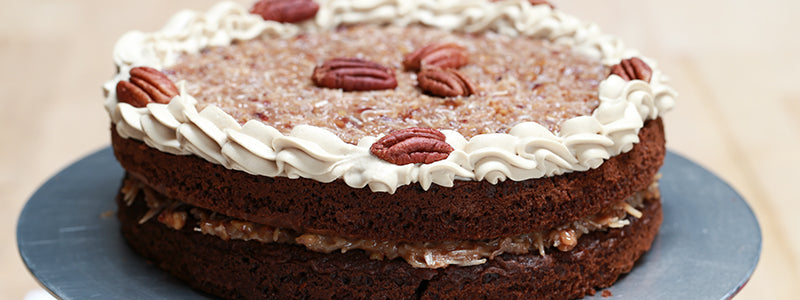
[[[124,201],[129,206],[135,201],[138,193],[144,194],[144,200],[149,210],[139,220],[140,224],[155,217],[158,222],[172,229],[181,230],[185,226],[192,226],[194,231],[214,235],[223,240],[299,244],[311,251],[323,253],[363,250],[371,259],[375,260],[402,258],[415,268],[443,268],[449,265],[483,264],[503,253],[527,254],[531,251],[538,251],[540,255],[545,256],[550,247],[559,251],[570,251],[584,234],[626,226],[630,224],[628,216],[640,218],[642,213],[637,207],[641,208],[643,200],[659,197],[658,177],[656,176],[653,183],[646,189],[636,192],[598,214],[562,224],[551,230],[491,240],[414,243],[347,239],[299,233],[237,220],[166,198],[135,179],[127,179],[121,192]]]

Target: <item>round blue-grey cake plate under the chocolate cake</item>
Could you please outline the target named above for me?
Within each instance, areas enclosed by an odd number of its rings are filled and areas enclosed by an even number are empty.
[[[110,148],[62,170],[31,197],[17,224],[30,272],[62,299],[211,299],[128,248],[114,197],[124,171]],[[747,203],[709,171],[667,153],[664,222],[652,249],[612,287],[615,300],[729,299],[747,282],[761,231]],[[606,299],[602,293],[586,299]]]

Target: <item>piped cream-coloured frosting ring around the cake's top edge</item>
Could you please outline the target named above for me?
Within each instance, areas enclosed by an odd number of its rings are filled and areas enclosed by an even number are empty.
[[[129,32],[114,49],[118,74],[107,81],[105,102],[117,132],[160,151],[194,154],[226,168],[254,175],[310,178],[320,182],[342,179],[354,188],[393,193],[418,182],[453,186],[455,180],[487,180],[493,184],[554,176],[599,167],[604,160],[630,151],[639,142],[644,121],[655,119],[674,105],[676,93],[655,61],[606,35],[594,24],[527,1],[486,0],[317,0],[320,10],[301,24],[264,21],[247,8],[223,2],[208,12],[183,11],[154,33]],[[300,125],[283,134],[260,121],[240,125],[215,106],[197,110],[197,100],[181,92],[169,104],[136,108],[117,101],[115,86],[135,66],[158,69],[174,64],[181,53],[224,46],[260,35],[286,38],[301,32],[331,30],[353,23],[426,24],[454,31],[495,31],[510,36],[549,39],[613,65],[638,56],[653,69],[651,82],[625,81],[611,75],[598,87],[599,106],[589,116],[566,120],[558,133],[525,122],[508,133],[481,134],[467,140],[442,130],[455,149],[431,164],[394,165],[369,151],[380,138],[367,136],[357,145],[345,143],[324,128]]]

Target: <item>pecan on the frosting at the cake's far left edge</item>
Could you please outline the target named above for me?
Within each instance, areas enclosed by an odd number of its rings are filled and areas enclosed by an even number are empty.
[[[145,107],[149,103],[169,103],[178,95],[178,87],[167,75],[151,67],[135,67],[130,71],[129,81],[117,83],[117,100],[135,107]]]

